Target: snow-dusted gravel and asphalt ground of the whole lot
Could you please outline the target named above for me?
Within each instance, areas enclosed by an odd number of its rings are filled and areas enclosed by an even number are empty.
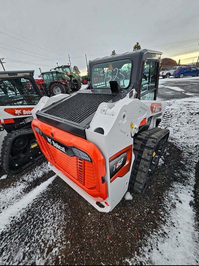
[[[160,78],[158,99],[167,149],[146,192],[108,214],[45,159],[15,176],[1,170],[1,264],[198,264],[199,77]]]

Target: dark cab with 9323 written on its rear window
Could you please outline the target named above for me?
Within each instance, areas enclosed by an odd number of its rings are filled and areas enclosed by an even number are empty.
[[[161,54],[143,49],[92,60],[87,89],[118,92],[121,97],[135,89],[136,98],[156,100]]]

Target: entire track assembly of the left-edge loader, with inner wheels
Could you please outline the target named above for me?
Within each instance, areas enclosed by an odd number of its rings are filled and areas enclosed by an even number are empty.
[[[8,174],[16,174],[43,157],[32,129],[8,133],[2,143],[1,164]],[[28,162],[29,161],[29,162]]]

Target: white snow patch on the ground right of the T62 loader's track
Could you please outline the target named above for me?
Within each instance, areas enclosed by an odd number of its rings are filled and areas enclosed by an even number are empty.
[[[174,182],[173,188],[165,192],[168,203],[164,216],[166,224],[150,236],[141,257],[135,255],[128,260],[130,264],[136,261],[155,265],[199,264],[199,235],[195,227],[195,211],[190,206],[199,154],[199,97],[170,100],[167,104],[166,119],[163,116],[160,126],[170,130],[170,140],[183,151],[188,183]]]

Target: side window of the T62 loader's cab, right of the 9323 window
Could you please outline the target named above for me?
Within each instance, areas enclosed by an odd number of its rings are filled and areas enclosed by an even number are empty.
[[[144,63],[141,77],[140,99],[142,101],[153,101],[157,89],[157,75],[159,62],[147,59]]]

